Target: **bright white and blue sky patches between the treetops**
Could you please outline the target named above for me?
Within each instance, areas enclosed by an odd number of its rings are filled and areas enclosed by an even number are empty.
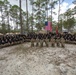
[[[12,5],[16,4],[19,5],[19,0],[8,0]],[[64,0],[64,2],[61,5],[61,10],[60,13],[64,13],[68,8],[74,8],[74,4],[72,3],[73,0]],[[26,11],[26,0],[22,0],[22,9],[24,11]],[[31,5],[30,2],[28,0],[28,11],[31,12]],[[53,15],[54,20],[57,21],[57,17],[58,17],[58,5],[56,6],[56,9],[53,10],[54,12],[57,13],[57,15]],[[49,15],[50,15],[50,11],[49,11]]]

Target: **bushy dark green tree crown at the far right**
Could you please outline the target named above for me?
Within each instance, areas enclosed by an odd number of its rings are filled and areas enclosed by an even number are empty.
[[[68,9],[64,14],[60,14],[59,27],[62,29],[62,25],[64,28],[71,30],[74,28],[76,19],[73,14],[73,9]]]

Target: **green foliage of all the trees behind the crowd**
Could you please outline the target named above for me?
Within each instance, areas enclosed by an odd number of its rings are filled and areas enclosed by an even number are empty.
[[[55,5],[59,0],[50,1],[50,0],[30,0],[30,4],[32,6],[32,13],[22,11],[22,27],[23,32],[28,31],[39,31],[44,28],[45,21],[51,21],[53,31],[56,30],[56,25],[59,26],[59,31],[62,31],[62,25],[64,28],[70,31],[76,25],[76,18],[74,15],[76,14],[76,7],[73,9],[68,9],[65,13],[59,14],[59,22],[53,20],[53,9],[55,9]],[[63,1],[62,1],[63,2]],[[62,3],[60,0],[60,4]],[[75,1],[74,1],[75,4]],[[28,10],[28,9],[27,9]],[[48,16],[48,11],[50,12],[50,16]],[[0,32],[20,32],[20,7],[17,5],[11,5],[8,0],[0,0]],[[28,14],[28,24],[27,24],[27,14]],[[56,14],[57,15],[57,14]],[[11,20],[10,20],[11,18]],[[13,28],[11,23],[13,22]]]

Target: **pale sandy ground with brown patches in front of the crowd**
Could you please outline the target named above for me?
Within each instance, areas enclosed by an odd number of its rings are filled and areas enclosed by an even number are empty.
[[[30,47],[30,43],[0,49],[0,75],[76,75],[76,45]]]

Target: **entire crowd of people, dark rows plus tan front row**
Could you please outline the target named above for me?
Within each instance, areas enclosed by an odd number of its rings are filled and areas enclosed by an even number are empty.
[[[48,47],[49,42],[51,42],[51,46],[62,46],[64,47],[65,41],[76,42],[76,34],[56,34],[56,33],[28,33],[24,34],[10,34],[10,35],[0,35],[0,46],[8,46],[19,44],[23,42],[31,42],[31,46],[40,46],[43,47],[44,44]]]

